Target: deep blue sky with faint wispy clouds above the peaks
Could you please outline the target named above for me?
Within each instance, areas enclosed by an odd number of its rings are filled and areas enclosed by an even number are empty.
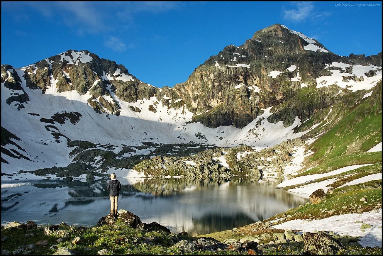
[[[379,53],[381,6],[337,3],[347,2],[2,2],[1,62],[23,67],[88,50],[144,82],[173,86],[275,23],[339,55]]]

